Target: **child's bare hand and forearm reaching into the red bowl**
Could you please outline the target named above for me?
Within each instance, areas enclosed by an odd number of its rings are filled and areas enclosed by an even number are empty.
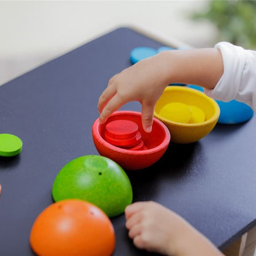
[[[197,84],[214,89],[223,74],[222,55],[217,49],[167,50],[113,76],[98,100],[100,122],[127,102],[142,104],[142,125],[151,132],[154,105],[172,82]]]

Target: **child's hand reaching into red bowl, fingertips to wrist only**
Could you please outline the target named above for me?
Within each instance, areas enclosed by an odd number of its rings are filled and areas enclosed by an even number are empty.
[[[167,86],[161,56],[146,58],[110,79],[98,100],[101,123],[125,103],[136,100],[142,104],[143,129],[151,132],[154,105]]]

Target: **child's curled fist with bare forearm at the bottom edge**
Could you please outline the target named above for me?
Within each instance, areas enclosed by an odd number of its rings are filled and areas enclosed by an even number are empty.
[[[164,255],[222,255],[182,217],[156,202],[126,207],[126,228],[135,246]]]

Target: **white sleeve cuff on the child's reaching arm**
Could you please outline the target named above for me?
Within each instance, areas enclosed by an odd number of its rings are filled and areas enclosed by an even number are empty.
[[[223,102],[244,102],[256,111],[256,51],[229,42],[219,42],[215,48],[222,53],[224,72],[215,88],[204,92]]]

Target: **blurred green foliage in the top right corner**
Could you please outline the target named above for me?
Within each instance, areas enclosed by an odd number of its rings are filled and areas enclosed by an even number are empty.
[[[219,31],[218,41],[228,41],[246,49],[256,49],[256,1],[211,0],[204,13],[193,14],[214,23]]]

